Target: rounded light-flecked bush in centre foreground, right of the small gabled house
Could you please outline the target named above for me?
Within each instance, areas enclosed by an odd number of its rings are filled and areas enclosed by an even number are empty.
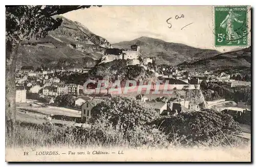
[[[93,124],[108,122],[124,130],[149,124],[157,117],[157,112],[150,105],[125,97],[103,101],[92,108],[91,114]]]

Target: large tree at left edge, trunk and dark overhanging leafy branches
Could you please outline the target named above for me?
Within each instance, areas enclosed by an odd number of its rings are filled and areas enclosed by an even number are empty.
[[[7,6],[6,7],[6,132],[15,128],[15,68],[22,41],[39,39],[58,28],[61,18],[52,16],[90,6]]]

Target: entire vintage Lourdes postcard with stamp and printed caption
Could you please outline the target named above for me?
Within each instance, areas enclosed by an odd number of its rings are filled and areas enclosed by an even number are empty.
[[[250,6],[6,6],[6,161],[251,162]]]

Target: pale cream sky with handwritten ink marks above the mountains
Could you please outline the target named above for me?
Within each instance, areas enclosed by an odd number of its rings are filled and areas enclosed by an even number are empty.
[[[220,52],[238,49],[215,47],[211,6],[102,6],[63,16],[82,23],[112,44],[146,36]]]

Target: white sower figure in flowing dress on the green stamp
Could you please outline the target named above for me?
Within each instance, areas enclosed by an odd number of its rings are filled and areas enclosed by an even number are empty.
[[[220,27],[226,29],[226,40],[229,41],[227,44],[232,44],[232,41],[238,41],[238,44],[240,43],[240,40],[238,39],[241,38],[242,36],[234,32],[233,30],[234,21],[243,23],[243,21],[240,21],[238,19],[239,16],[241,15],[234,13],[232,9],[229,9],[228,15],[220,24]]]

